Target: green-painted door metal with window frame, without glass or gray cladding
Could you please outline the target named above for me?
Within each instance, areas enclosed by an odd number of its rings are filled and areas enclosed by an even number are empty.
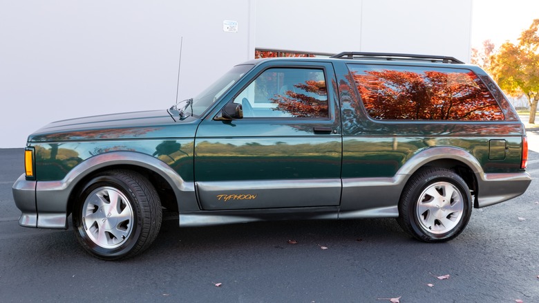
[[[328,86],[330,117],[243,118],[215,120],[222,107],[234,100],[267,67],[320,68]],[[256,66],[216,110],[198,127],[195,145],[196,181],[249,181],[304,178],[339,178],[341,123],[332,64],[272,62]],[[315,131],[325,127],[330,131]]]

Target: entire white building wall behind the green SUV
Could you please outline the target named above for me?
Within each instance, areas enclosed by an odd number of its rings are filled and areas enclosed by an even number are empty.
[[[0,1],[0,148],[48,122],[167,109],[254,48],[469,60],[472,0]],[[226,33],[223,21],[238,21]]]

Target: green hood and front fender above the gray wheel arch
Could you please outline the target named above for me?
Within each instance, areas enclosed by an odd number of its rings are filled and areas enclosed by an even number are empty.
[[[62,180],[84,160],[111,152],[148,154],[193,181],[193,146],[199,119],[174,119],[165,110],[62,120],[30,135],[38,181]]]

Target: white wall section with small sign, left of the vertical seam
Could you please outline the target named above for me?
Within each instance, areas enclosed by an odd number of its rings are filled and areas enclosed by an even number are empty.
[[[0,1],[0,148],[48,122],[167,109],[254,57],[249,0]],[[226,33],[223,21],[238,21]]]

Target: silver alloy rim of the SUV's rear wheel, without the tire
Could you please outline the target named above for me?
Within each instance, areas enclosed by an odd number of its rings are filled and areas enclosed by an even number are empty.
[[[429,185],[417,201],[419,224],[433,234],[453,230],[464,212],[463,200],[460,191],[451,183],[437,182]]]

